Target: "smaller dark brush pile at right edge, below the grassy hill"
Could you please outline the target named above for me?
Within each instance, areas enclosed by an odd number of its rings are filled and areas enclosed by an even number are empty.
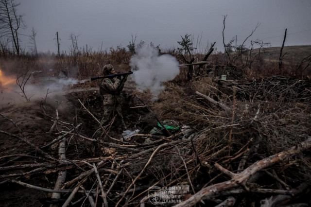
[[[311,80],[272,76],[253,79],[247,83],[219,80],[218,85],[226,94],[235,92],[237,96],[248,100],[311,103]]]

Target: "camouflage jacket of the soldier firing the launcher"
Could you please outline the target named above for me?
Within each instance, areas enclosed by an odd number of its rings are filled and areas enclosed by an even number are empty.
[[[99,91],[104,98],[104,105],[115,104],[116,101],[119,101],[119,94],[123,88],[121,84],[121,80],[117,77],[104,78],[102,80],[99,85]],[[124,82],[122,85],[124,85]]]

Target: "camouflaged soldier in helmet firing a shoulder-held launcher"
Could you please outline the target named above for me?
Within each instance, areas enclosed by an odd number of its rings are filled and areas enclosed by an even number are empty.
[[[115,74],[116,71],[113,69],[111,64],[105,65],[102,69],[102,74],[109,75]],[[109,123],[111,118],[117,114],[120,121],[121,121],[121,128],[123,130],[126,129],[122,110],[121,110],[121,91],[124,87],[124,83],[126,81],[127,75],[113,78],[104,78],[102,82],[99,84],[100,94],[103,96],[104,99],[104,116],[101,121],[101,124],[104,126]]]

